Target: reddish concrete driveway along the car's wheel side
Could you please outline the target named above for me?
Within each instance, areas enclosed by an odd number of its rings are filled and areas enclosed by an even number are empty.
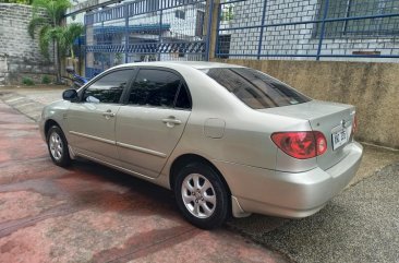
[[[37,124],[0,103],[0,262],[286,262],[178,214],[171,192],[89,162],[55,166]]]

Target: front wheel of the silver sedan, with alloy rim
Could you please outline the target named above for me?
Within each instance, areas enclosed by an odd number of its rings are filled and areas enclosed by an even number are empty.
[[[47,148],[52,162],[61,167],[71,164],[71,157],[68,148],[68,142],[62,130],[58,125],[53,125],[47,132]]]

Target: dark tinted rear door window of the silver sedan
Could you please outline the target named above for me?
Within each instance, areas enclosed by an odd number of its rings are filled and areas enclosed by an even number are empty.
[[[169,71],[141,70],[129,97],[130,104],[173,107],[180,77]]]

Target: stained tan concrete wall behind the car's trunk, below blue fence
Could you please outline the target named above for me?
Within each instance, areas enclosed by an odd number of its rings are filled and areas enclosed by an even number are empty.
[[[399,148],[399,64],[222,60],[251,67],[322,100],[356,106],[358,140]]]

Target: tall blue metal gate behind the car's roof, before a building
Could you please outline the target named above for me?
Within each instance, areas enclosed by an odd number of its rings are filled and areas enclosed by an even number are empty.
[[[85,74],[138,61],[208,60],[211,2],[136,0],[85,15]]]

